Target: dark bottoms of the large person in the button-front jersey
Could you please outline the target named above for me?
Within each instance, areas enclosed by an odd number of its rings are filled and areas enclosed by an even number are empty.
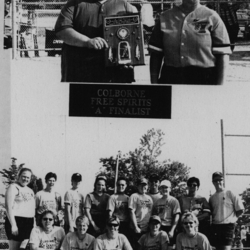
[[[195,66],[176,68],[163,64],[159,84],[216,85],[216,68]]]

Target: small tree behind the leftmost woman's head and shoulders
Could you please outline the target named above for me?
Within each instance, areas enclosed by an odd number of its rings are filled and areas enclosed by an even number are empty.
[[[3,169],[3,171],[0,171],[0,174],[2,175],[3,184],[6,186],[6,188],[8,188],[8,186],[11,183],[14,183],[17,181],[18,173],[24,166],[24,163],[17,166],[16,160],[17,160],[16,158],[12,157],[10,168]],[[34,174],[32,174],[31,181],[30,181],[28,187],[30,187],[34,191],[35,194],[38,191],[42,190],[43,184],[42,184],[41,178],[38,179]],[[2,195],[2,196],[4,196],[4,195]]]

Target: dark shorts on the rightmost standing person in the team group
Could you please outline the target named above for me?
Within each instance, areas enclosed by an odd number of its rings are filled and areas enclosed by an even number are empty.
[[[231,246],[233,243],[235,224],[212,224],[211,245],[218,246]]]

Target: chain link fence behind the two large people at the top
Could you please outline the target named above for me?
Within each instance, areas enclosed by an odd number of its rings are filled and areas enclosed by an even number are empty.
[[[5,33],[12,38],[12,47],[16,48],[14,57],[57,56],[61,54],[62,41],[54,33],[54,25],[64,0],[5,0],[9,3],[9,15],[5,16]],[[13,2],[11,2],[13,1]],[[160,13],[170,9],[181,0],[129,0],[140,11],[142,5],[148,4],[153,8],[154,19]],[[201,1],[210,4],[219,12],[220,4],[225,0]],[[238,37],[244,42],[250,40],[250,0],[237,1],[237,11],[240,31]],[[12,10],[11,10],[12,7]],[[13,16],[14,18],[12,18]],[[8,25],[6,25],[8,23]],[[13,27],[13,28],[12,28]],[[148,44],[152,30],[144,30],[145,45]],[[11,42],[8,42],[10,47]],[[250,43],[249,43],[250,45]]]

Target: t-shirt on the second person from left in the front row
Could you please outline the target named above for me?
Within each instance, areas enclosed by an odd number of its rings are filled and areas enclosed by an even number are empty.
[[[86,234],[83,240],[78,239],[75,232],[69,232],[63,240],[61,250],[92,250],[95,237]]]

